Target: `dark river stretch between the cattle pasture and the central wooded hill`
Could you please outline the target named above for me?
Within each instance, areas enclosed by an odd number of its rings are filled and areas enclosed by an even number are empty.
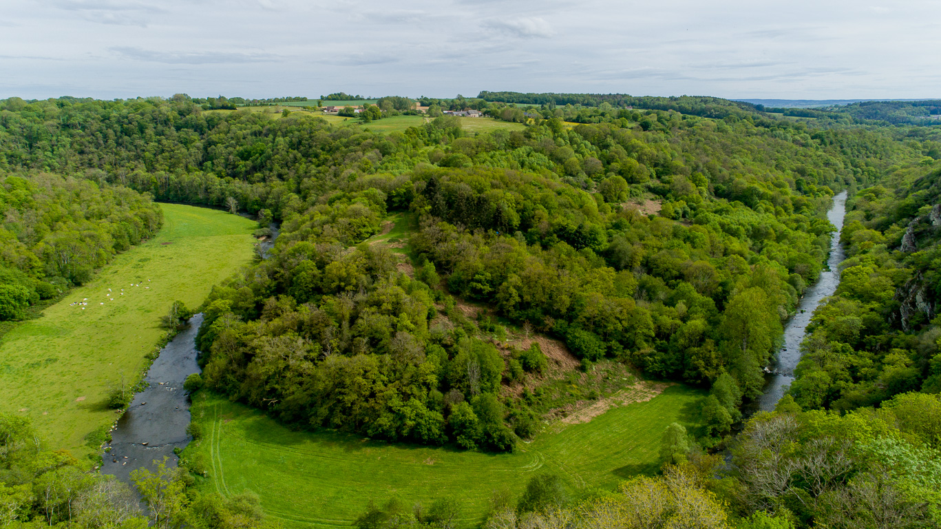
[[[183,381],[199,373],[196,333],[202,313],[189,319],[189,326],[177,334],[153,361],[145,381],[147,389],[137,393],[127,411],[111,432],[110,452],[104,453],[102,473],[130,483],[131,471],[144,467],[153,470],[154,460],[169,457],[167,467],[176,467],[173,449],[183,449],[192,439],[189,425],[189,396]]]

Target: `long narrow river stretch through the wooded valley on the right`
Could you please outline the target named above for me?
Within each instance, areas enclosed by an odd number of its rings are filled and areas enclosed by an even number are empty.
[[[784,328],[784,346],[778,351],[774,363],[769,366],[773,374],[768,377],[764,393],[758,400],[758,408],[770,411],[777,401],[784,396],[791,382],[794,381],[794,368],[801,361],[801,343],[804,342],[810,316],[821,301],[833,296],[839,284],[839,264],[846,258],[843,247],[839,244],[839,235],[843,231],[843,217],[846,216],[846,191],[833,198],[833,207],[827,212],[827,219],[836,226],[837,232],[830,241],[830,257],[827,270],[821,272],[820,280],[805,291],[797,305],[797,312],[792,315]]]

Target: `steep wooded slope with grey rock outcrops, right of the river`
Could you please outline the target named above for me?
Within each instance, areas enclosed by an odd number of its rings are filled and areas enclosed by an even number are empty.
[[[927,161],[894,169],[849,202],[849,257],[837,295],[814,315],[790,389],[805,409],[941,392],[941,170]]]

